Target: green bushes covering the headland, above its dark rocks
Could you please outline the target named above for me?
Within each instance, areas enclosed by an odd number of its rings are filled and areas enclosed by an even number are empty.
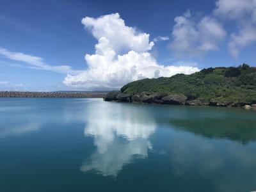
[[[204,68],[191,75],[177,74],[158,79],[141,79],[121,88],[122,93],[182,94],[188,100],[256,103],[256,67]]]

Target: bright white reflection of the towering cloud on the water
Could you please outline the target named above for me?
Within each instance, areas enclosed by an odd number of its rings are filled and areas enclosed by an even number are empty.
[[[97,150],[84,161],[82,172],[95,170],[104,176],[116,177],[124,164],[146,158],[148,149],[152,148],[148,139],[156,125],[147,110],[114,105],[101,103],[90,108],[84,135],[93,136]]]

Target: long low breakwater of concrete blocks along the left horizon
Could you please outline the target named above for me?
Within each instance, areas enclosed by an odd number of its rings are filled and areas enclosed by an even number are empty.
[[[70,97],[70,98],[104,98],[101,92],[0,92],[0,97]]]

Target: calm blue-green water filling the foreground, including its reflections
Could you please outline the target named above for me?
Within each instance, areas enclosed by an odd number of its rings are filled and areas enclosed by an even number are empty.
[[[253,191],[256,111],[0,99],[0,191]]]

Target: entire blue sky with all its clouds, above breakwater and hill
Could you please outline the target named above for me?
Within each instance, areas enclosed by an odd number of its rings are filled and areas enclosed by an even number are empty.
[[[248,63],[256,0],[0,0],[0,90],[117,90]]]

